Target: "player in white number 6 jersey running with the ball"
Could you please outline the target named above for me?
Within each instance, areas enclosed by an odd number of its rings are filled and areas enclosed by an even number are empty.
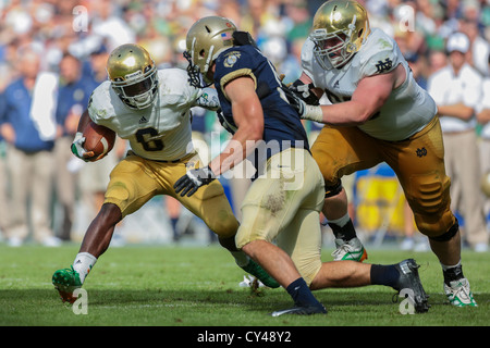
[[[236,263],[270,287],[279,287],[257,263],[235,247],[238,222],[219,181],[210,181],[192,197],[176,195],[173,186],[188,167],[203,165],[192,145],[193,107],[217,110],[213,89],[188,84],[179,69],[157,70],[138,45],[122,45],[107,63],[109,80],[93,92],[82,115],[72,152],[89,160],[83,129],[90,121],[127,139],[131,150],[112,170],[103,206],[89,225],[71,269],[54,272],[52,283],[63,301],[73,302],[97,259],[107,250],[115,225],[157,195],[175,197],[213,231]]]

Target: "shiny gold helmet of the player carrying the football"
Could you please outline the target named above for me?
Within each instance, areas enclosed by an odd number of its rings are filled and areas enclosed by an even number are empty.
[[[158,70],[150,54],[139,45],[115,48],[107,60],[112,88],[131,109],[146,109],[158,92]]]

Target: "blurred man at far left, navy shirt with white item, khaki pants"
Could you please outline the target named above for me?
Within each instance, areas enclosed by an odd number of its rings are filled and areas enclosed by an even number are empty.
[[[12,192],[8,243],[22,245],[30,224],[37,243],[59,246],[51,229],[58,76],[39,73],[40,57],[29,48],[17,57],[21,76],[7,87],[0,103],[1,134],[11,145],[7,157]]]

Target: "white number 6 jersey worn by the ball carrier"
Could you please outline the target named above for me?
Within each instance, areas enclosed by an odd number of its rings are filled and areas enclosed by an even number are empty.
[[[159,92],[152,105],[144,110],[127,108],[113,91],[110,80],[103,82],[91,95],[88,114],[95,123],[127,139],[137,156],[157,161],[179,160],[194,151],[191,108],[216,110],[219,107],[216,95],[208,96],[187,79],[184,70],[159,70]]]

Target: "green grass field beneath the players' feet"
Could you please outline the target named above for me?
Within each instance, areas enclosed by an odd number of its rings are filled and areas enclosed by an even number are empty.
[[[245,273],[218,246],[110,248],[85,282],[87,314],[62,304],[51,285],[57,269],[72,263],[77,245],[50,249],[0,245],[2,326],[488,326],[490,254],[464,251],[464,273],[478,308],[454,308],[442,294],[441,268],[431,252],[370,250],[369,262],[414,257],[430,295],[428,313],[403,315],[382,286],[315,291],[327,315],[272,318],[292,304],[284,289],[254,294],[238,286]],[[369,249],[368,249],[369,250]],[[331,260],[331,250],[323,259]]]

